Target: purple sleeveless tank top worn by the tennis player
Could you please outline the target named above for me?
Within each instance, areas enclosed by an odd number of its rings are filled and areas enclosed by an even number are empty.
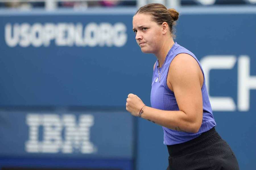
[[[167,81],[167,75],[168,75],[170,63],[172,62],[174,57],[180,53],[186,53],[191,55],[193,58],[195,58],[203,73],[201,64],[199,63],[195,55],[189,50],[187,50],[186,48],[177,44],[177,42],[175,42],[175,44],[172,46],[171,50],[168,52],[166,56],[166,61],[164,63],[164,66],[162,67],[163,71],[162,71],[162,68],[159,68],[160,73],[162,72],[160,83],[159,83],[158,68],[157,68],[158,62],[156,61],[156,66],[155,66],[153,77],[152,77],[152,89],[151,89],[151,95],[150,95],[151,106],[153,108],[166,110],[166,111],[179,110],[176,98],[174,96],[174,92],[172,92],[168,88],[166,81]],[[208,131],[214,126],[216,126],[216,122],[212,115],[212,107],[209,101],[209,97],[208,97],[208,93],[205,85],[204,73],[203,73],[203,76],[204,76],[204,82],[201,89],[202,96],[203,96],[203,121],[202,121],[201,128],[197,133],[187,133],[187,132],[175,131],[175,130],[163,127],[165,145],[175,145],[175,144],[190,141],[198,137],[199,135],[201,135],[201,133]]]

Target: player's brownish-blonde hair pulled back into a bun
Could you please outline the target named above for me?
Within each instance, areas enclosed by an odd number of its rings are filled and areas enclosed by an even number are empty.
[[[169,25],[170,32],[172,37],[175,38],[174,35],[174,26],[176,25],[176,21],[179,18],[179,12],[175,9],[167,9],[164,5],[159,3],[151,3],[140,7],[136,14],[149,14],[152,16],[152,20],[159,25],[163,24],[163,22],[167,22]]]

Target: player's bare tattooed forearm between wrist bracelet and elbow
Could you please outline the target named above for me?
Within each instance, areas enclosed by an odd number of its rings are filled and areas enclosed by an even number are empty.
[[[197,133],[201,127],[183,111],[164,111],[146,106],[141,117],[176,131]]]

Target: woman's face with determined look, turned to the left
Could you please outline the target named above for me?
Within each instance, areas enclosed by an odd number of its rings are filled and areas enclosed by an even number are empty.
[[[162,46],[162,25],[152,21],[149,14],[136,14],[133,17],[135,39],[144,53],[156,54]]]

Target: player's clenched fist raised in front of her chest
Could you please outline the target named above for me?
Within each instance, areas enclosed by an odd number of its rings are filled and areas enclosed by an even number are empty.
[[[129,94],[126,99],[126,110],[133,116],[139,116],[141,108],[144,106],[143,101],[135,94]]]

